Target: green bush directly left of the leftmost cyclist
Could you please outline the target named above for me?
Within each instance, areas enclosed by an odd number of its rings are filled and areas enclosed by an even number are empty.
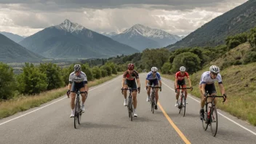
[[[63,87],[64,81],[60,73],[63,73],[59,66],[52,63],[44,63],[39,65],[41,73],[47,75],[47,90]]]

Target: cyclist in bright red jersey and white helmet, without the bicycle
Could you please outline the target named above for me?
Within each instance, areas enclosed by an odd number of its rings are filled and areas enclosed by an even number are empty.
[[[176,92],[175,106],[178,106],[177,100],[179,99],[179,95],[180,95],[180,89],[177,89],[177,88],[178,87],[186,87],[185,76],[188,79],[189,87],[191,88],[191,90],[193,89],[193,87],[191,86],[191,79],[189,79],[189,76],[188,76],[188,72],[185,71],[184,66],[181,66],[180,71],[178,71],[175,74],[175,92]],[[184,89],[184,91],[185,91],[185,102],[187,103],[186,99],[187,99],[188,92],[187,92],[187,89]]]

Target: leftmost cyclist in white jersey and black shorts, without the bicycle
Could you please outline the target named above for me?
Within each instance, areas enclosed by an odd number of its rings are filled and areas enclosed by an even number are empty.
[[[81,110],[84,113],[84,102],[87,98],[88,85],[87,85],[87,75],[81,71],[81,65],[76,64],[73,66],[74,71],[69,75],[69,84],[68,84],[68,98],[71,94],[71,118],[74,116],[75,108],[75,98],[76,98],[76,89],[80,89],[82,106]],[[72,87],[71,87],[72,86]]]

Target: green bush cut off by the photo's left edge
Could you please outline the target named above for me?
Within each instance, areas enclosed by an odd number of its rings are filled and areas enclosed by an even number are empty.
[[[0,62],[0,100],[7,100],[13,97],[15,90],[15,77],[13,69]]]

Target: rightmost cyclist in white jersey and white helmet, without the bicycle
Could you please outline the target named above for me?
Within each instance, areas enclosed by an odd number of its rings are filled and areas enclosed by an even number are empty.
[[[209,67],[209,71],[205,71],[201,75],[199,89],[201,93],[201,110],[200,110],[200,119],[204,119],[204,103],[205,97],[207,96],[207,91],[209,95],[217,95],[215,89],[215,81],[218,81],[220,92],[223,95],[224,99],[226,99],[225,88],[223,86],[223,81],[220,75],[220,68],[216,65],[212,65]],[[215,105],[217,104],[217,100],[215,100]]]

